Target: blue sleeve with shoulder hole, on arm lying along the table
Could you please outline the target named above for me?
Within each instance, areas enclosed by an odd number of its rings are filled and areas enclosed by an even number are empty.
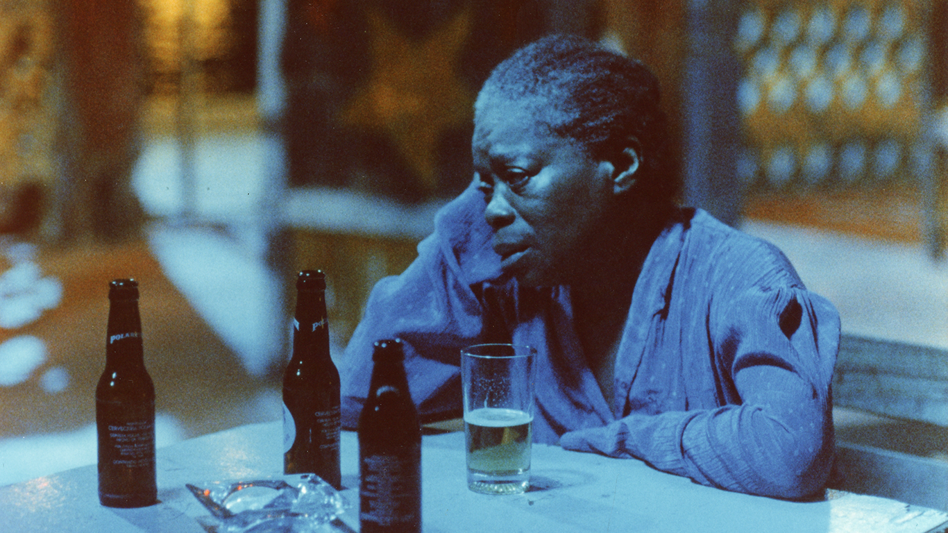
[[[830,380],[839,317],[796,286],[752,287],[709,323],[723,385],[737,401],[717,409],[631,414],[562,435],[569,450],[643,459],[656,469],[750,494],[798,499],[830,474]]]

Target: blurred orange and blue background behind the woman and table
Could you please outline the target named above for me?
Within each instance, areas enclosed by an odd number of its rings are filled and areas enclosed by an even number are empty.
[[[16,0],[0,484],[95,462],[118,277],[159,446],[278,419],[295,273],[327,273],[337,357],[469,180],[480,83],[553,31],[649,64],[684,203],[839,308],[837,434],[948,465],[946,0]]]

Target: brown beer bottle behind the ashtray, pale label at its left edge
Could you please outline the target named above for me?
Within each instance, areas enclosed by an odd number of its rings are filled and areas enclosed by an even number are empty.
[[[326,277],[297,276],[293,354],[283,373],[283,472],[315,473],[333,487],[339,475],[339,373],[329,354]]]

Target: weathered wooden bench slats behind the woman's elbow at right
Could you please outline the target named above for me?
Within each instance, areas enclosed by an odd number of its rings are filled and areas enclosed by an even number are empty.
[[[844,335],[831,487],[948,510],[948,351]]]

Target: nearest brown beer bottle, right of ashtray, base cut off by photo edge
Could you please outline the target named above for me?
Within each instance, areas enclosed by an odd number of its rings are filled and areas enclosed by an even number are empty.
[[[372,380],[358,420],[362,533],[421,531],[421,427],[400,340],[375,343]]]

